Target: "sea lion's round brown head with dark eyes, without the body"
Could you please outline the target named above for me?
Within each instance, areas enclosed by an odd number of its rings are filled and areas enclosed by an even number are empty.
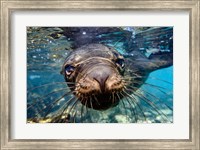
[[[124,86],[124,58],[117,51],[96,44],[73,51],[62,74],[83,105],[104,110],[119,103]]]

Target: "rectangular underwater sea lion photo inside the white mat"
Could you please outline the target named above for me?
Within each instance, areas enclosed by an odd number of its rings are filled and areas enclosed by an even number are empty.
[[[27,27],[27,123],[173,123],[173,27]]]

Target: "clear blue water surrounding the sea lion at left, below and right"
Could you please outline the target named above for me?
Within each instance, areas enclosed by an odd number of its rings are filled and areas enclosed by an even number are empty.
[[[36,99],[44,97],[54,90],[66,88],[65,83],[62,84],[58,82],[64,82],[60,70],[65,57],[71,50],[71,47],[70,41],[68,41],[65,36],[61,35],[59,39],[53,39],[49,36],[50,33],[58,30],[60,29],[27,29],[27,104],[33,103]],[[108,45],[112,45],[112,43],[109,43]],[[122,54],[126,53],[122,46],[120,46],[120,42],[117,45],[117,49]],[[48,85],[48,83],[54,84]],[[146,116],[145,120],[140,119],[138,122],[173,122],[173,66],[150,73],[146,83],[151,86],[144,84],[138,92],[144,94],[145,98],[150,100],[153,105],[137,98],[138,103],[142,106]],[[38,88],[33,89],[34,87]],[[148,91],[148,93],[145,91]],[[40,113],[42,114],[41,110],[46,107],[45,105],[59,97],[59,95],[62,95],[64,92],[65,91],[59,91],[52,94],[48,99],[43,101],[40,100],[40,103],[35,104],[34,109],[39,108],[39,111],[37,111],[38,116],[40,116]],[[67,98],[63,99],[59,104],[57,104],[57,106],[52,109],[52,112],[56,112],[59,107],[62,107],[62,104],[64,104],[66,99]],[[132,123],[135,122],[135,118],[133,117],[133,107],[131,108],[130,104],[124,100],[124,104],[120,102],[118,106],[106,111],[89,110],[90,113],[86,113],[85,110],[85,116],[83,119],[84,122]],[[159,111],[155,111],[155,108]],[[142,118],[142,113],[139,112],[140,109],[136,108],[136,111],[138,111],[138,118]],[[33,110],[27,110],[28,119],[34,115],[35,112]],[[80,112],[77,112],[77,115],[80,115]]]

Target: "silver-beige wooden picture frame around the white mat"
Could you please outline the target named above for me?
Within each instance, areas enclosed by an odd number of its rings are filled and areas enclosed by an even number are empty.
[[[11,14],[17,10],[136,10],[188,11],[189,20],[189,139],[81,139],[33,140],[11,137]],[[200,1],[76,1],[76,0],[1,0],[1,149],[200,149]]]

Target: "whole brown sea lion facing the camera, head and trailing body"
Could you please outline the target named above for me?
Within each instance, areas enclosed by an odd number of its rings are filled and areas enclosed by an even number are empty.
[[[136,91],[151,71],[172,65],[172,55],[150,59],[138,56],[124,58],[114,48],[88,44],[68,55],[61,73],[67,83],[75,83],[68,86],[83,105],[105,110]]]

